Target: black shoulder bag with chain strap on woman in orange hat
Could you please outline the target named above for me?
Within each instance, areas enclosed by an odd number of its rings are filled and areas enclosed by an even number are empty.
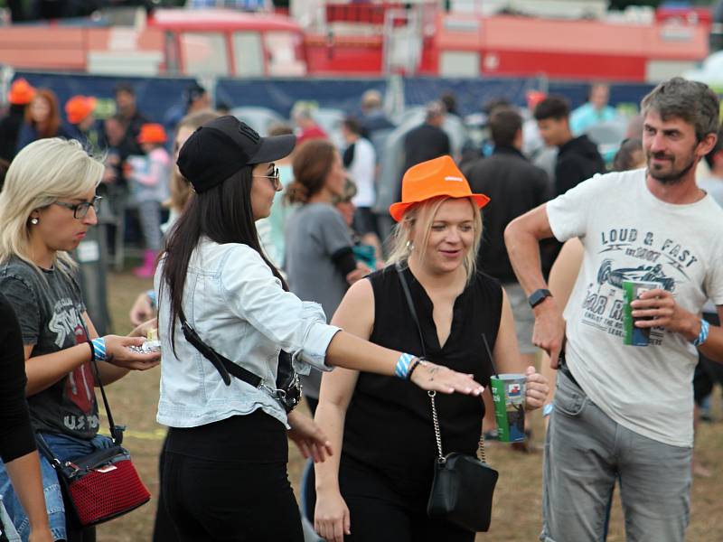
[[[404,295],[407,298],[409,312],[417,326],[422,354],[426,354],[424,337],[414,308],[412,296],[409,294],[407,280],[401,266],[397,264],[397,273]],[[492,359],[491,359],[492,361]],[[494,486],[498,472],[485,461],[484,433],[480,426],[480,443],[477,449],[479,457],[467,453],[442,453],[442,435],[439,430],[435,396],[437,392],[428,391],[432,402],[432,423],[437,439],[437,458],[432,489],[427,501],[427,516],[444,518],[455,525],[474,532],[485,532],[490,528],[492,519],[492,501]]]

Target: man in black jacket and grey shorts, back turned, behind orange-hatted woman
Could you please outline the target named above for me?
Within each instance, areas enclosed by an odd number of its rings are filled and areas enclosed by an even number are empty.
[[[521,154],[522,117],[512,107],[495,109],[489,121],[493,154],[468,164],[462,171],[474,193],[491,198],[483,213],[483,242],[478,266],[504,286],[512,305],[517,341],[527,364],[534,364],[537,349],[532,344],[534,315],[527,296],[512,271],[504,246],[504,229],[512,220],[549,199],[547,173]]]

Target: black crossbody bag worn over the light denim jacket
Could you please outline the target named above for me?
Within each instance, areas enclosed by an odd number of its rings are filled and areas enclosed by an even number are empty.
[[[249,386],[264,389],[284,407],[286,413],[294,410],[296,405],[299,404],[301,400],[301,382],[294,370],[294,366],[291,363],[291,355],[288,352],[281,350],[278,353],[277,387],[276,389],[268,388],[268,386],[264,386],[261,377],[255,375],[249,369],[244,369],[225,356],[222,356],[219,352],[213,350],[208,344],[203,342],[199,334],[186,320],[183,310],[179,311],[178,318],[181,321],[183,337],[192,344],[193,348],[201,352],[201,355],[206,358],[206,360],[211,361],[213,367],[219,371],[223,383],[226,384],[226,386],[231,385],[231,376],[233,376],[246,382]]]

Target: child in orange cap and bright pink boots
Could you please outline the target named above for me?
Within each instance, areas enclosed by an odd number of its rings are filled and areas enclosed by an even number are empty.
[[[136,276],[150,277],[155,271],[155,257],[161,249],[161,203],[168,198],[171,156],[165,150],[164,127],[147,123],[141,126],[137,141],[145,156],[129,156],[131,193],[138,206],[138,220],[146,242],[143,265]]]

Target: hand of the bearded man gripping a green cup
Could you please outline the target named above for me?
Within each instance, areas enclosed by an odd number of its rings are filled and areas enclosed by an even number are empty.
[[[635,319],[644,319],[635,320],[635,327],[663,327],[669,332],[681,333],[688,341],[698,337],[700,317],[683,309],[667,290],[656,288],[643,292],[630,306]]]

